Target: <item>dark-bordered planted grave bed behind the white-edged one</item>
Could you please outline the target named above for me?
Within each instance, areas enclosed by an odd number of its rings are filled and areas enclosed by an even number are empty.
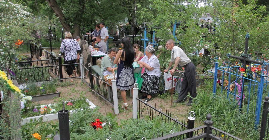
[[[20,85],[19,89],[25,95],[30,95],[33,99],[32,102],[52,99],[54,97],[60,97],[60,93],[56,89],[56,82],[45,83],[27,83],[26,85]]]

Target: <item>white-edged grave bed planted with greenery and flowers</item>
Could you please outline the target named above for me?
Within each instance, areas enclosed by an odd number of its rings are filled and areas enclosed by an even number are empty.
[[[31,119],[39,119],[42,118],[43,121],[50,121],[54,119],[58,119],[58,111],[62,110],[62,103],[57,104],[48,104],[48,105],[34,105],[31,102],[28,102],[30,106],[27,107],[25,110],[23,110],[22,117],[25,119],[22,119],[22,125],[31,122]],[[65,102],[65,109],[69,110],[70,115],[73,114],[73,112],[80,108],[95,108],[96,106],[89,101],[87,98],[82,99],[74,99],[70,101]]]

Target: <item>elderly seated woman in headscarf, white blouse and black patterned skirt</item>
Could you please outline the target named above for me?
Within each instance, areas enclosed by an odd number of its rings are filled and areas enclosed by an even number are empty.
[[[140,99],[145,99],[147,101],[151,100],[151,96],[159,92],[159,79],[161,77],[160,62],[158,58],[154,55],[155,49],[153,46],[149,45],[145,49],[146,55],[138,61],[140,68],[145,67],[146,71],[142,75],[143,84],[141,91],[143,92]]]

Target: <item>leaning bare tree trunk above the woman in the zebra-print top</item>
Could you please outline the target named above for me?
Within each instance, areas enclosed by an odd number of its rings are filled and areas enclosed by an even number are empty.
[[[70,32],[71,27],[65,22],[64,14],[62,13],[62,10],[57,4],[56,0],[47,0],[47,2],[49,7],[51,7],[51,9],[55,12],[56,16],[59,17],[59,21],[61,22],[63,29]]]

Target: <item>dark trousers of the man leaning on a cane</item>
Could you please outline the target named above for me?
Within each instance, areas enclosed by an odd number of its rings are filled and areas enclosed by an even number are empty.
[[[182,80],[182,86],[181,91],[178,94],[178,100],[186,101],[187,95],[190,92],[190,96],[192,98],[195,98],[196,93],[196,79],[195,79],[195,66],[191,62],[189,65],[187,65],[185,68],[183,80]],[[189,102],[192,101],[192,98],[189,98]]]

